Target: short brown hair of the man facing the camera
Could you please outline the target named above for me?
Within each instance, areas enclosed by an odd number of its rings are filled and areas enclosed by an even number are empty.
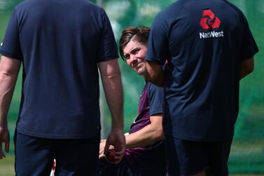
[[[130,41],[138,41],[142,45],[148,44],[148,34],[151,28],[149,27],[127,27],[123,30],[119,40],[119,53],[123,60],[125,60],[124,48]]]

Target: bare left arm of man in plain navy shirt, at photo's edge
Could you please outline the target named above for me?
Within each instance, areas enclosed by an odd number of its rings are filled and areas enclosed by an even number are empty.
[[[15,83],[18,79],[20,61],[10,57],[1,57],[0,61],[0,159],[6,157],[2,144],[5,143],[5,151],[9,151],[9,131],[7,114],[11,104]]]

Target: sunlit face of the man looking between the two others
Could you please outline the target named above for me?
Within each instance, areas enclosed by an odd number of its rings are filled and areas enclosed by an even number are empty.
[[[123,50],[127,65],[134,69],[139,75],[143,75],[145,72],[146,51],[146,46],[138,41],[130,41]]]

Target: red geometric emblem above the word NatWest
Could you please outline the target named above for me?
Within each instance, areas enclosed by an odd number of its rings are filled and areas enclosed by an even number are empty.
[[[200,20],[200,25],[203,29],[215,29],[218,28],[220,24],[221,21],[211,10],[204,10],[202,13],[202,19]]]

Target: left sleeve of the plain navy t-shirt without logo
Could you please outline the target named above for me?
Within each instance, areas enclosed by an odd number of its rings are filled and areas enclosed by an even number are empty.
[[[15,11],[12,13],[11,18],[8,22],[6,34],[0,46],[0,53],[2,55],[5,55],[6,57],[12,57],[18,60],[22,60],[18,18]]]

